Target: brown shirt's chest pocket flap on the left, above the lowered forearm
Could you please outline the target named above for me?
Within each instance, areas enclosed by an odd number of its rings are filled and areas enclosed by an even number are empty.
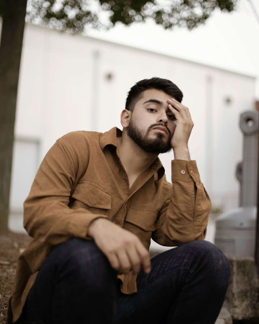
[[[88,181],[78,181],[72,197],[90,207],[111,209],[111,194]]]

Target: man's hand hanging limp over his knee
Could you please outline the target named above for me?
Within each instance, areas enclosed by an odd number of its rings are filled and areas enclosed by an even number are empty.
[[[106,218],[97,218],[90,224],[87,235],[95,240],[98,248],[107,256],[112,268],[118,272],[129,273],[133,270],[133,273],[137,274],[141,264],[144,272],[150,272],[148,250],[135,234]]]

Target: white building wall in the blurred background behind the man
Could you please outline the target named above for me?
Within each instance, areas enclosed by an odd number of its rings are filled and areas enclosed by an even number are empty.
[[[195,124],[191,158],[208,192],[237,192],[238,122],[242,111],[253,109],[255,79],[250,76],[26,24],[15,134],[39,140],[41,161],[68,132],[121,128],[129,88],[152,76],[172,80],[184,93]],[[168,180],[172,158],[173,153],[161,156]]]

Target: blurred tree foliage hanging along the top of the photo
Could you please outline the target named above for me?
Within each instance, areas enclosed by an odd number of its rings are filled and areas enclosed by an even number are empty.
[[[58,30],[81,33],[86,27],[109,28],[152,18],[165,29],[193,29],[203,24],[215,9],[231,12],[238,0],[28,0],[26,21]],[[0,16],[2,13],[0,0]],[[107,14],[107,23],[100,19]]]

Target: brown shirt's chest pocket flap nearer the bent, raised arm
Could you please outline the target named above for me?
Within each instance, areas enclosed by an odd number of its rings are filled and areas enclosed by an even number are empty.
[[[126,222],[132,223],[143,228],[145,231],[154,231],[157,228],[158,212],[147,208],[129,207]]]

